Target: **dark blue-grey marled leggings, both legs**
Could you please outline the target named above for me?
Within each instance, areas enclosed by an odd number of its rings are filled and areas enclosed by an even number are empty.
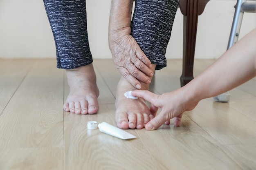
[[[56,45],[57,68],[72,69],[92,63],[85,0],[44,0]],[[156,69],[166,66],[178,0],[136,0],[132,36]]]

